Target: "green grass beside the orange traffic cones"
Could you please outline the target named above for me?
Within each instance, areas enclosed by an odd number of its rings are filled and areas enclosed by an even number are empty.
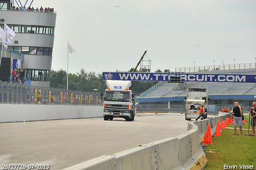
[[[243,134],[248,134],[249,116],[245,115],[247,125],[243,124]],[[224,164],[232,166],[239,165],[254,166],[256,170],[256,136],[241,136],[239,127],[237,127],[237,134],[234,134],[233,124],[228,124],[228,127],[220,132],[221,136],[216,136],[212,139],[213,144],[209,144],[204,153],[208,160],[205,170],[223,170]],[[246,129],[246,130],[244,130]],[[252,134],[252,127],[250,126],[249,134]],[[209,152],[210,151],[210,152]]]

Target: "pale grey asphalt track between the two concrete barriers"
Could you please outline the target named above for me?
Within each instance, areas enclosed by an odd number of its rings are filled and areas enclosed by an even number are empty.
[[[178,136],[184,114],[138,114],[133,122],[103,118],[0,123],[0,165],[39,164],[59,170],[102,155]]]

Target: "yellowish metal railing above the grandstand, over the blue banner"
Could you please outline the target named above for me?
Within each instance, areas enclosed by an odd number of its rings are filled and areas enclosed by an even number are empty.
[[[175,72],[200,72],[200,71],[212,71],[212,70],[235,70],[235,69],[246,69],[246,68],[256,68],[256,63],[181,67],[181,68],[175,68]]]

